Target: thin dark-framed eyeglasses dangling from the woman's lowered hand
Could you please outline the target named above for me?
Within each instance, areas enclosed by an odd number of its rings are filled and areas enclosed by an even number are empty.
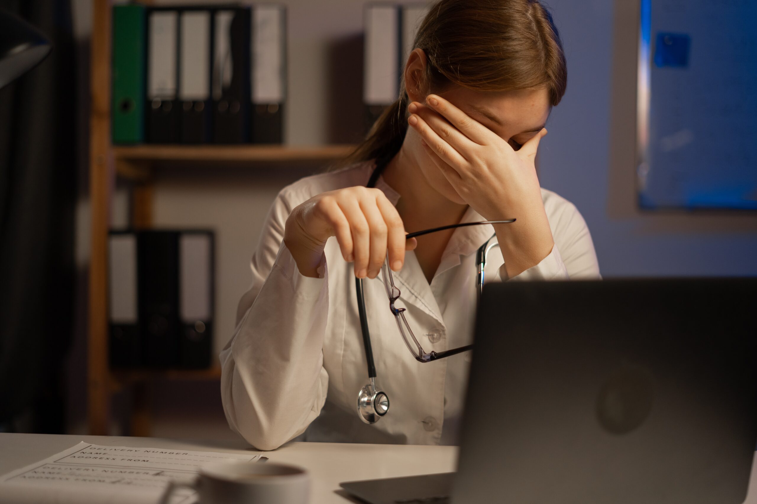
[[[508,219],[506,221],[481,221],[481,222],[466,222],[463,224],[452,224],[450,226],[435,227],[433,229],[416,231],[415,233],[408,233],[407,240],[410,240],[410,238],[413,238],[413,237],[422,236],[424,234],[435,233],[436,231],[441,231],[445,229],[451,229],[453,227],[478,226],[481,224],[509,224],[515,221],[516,219],[513,218],[513,219]],[[484,286],[484,266],[486,265],[487,255],[494,246],[497,246],[497,243],[490,243],[492,238],[487,240],[487,242],[484,243],[484,245],[482,245],[478,249],[478,253],[476,255],[476,270],[477,270],[476,272],[477,285],[476,286],[477,286],[479,295],[481,293],[481,289]],[[384,288],[386,290],[386,295],[389,298],[389,309],[391,310],[391,313],[394,315],[394,320],[397,322],[397,329],[400,329],[400,335],[402,335],[402,339],[405,342],[405,345],[407,345],[407,349],[410,350],[410,353],[413,354],[413,357],[415,357],[416,360],[418,360],[421,363],[431,362],[431,360],[444,359],[444,357],[450,357],[450,355],[460,354],[464,351],[469,351],[473,348],[473,345],[465,345],[463,347],[452,348],[450,350],[445,350],[441,352],[435,352],[435,351],[427,352],[423,350],[422,346],[418,342],[418,339],[416,339],[416,336],[413,334],[413,329],[410,329],[410,324],[407,323],[407,318],[405,318],[405,313],[404,313],[405,308],[397,308],[396,306],[394,306],[394,303],[397,301],[397,299],[400,298],[400,289],[397,289],[397,286],[394,285],[394,277],[391,274],[391,267],[389,267],[388,256],[384,261],[381,272],[382,272],[382,278],[384,280]]]

